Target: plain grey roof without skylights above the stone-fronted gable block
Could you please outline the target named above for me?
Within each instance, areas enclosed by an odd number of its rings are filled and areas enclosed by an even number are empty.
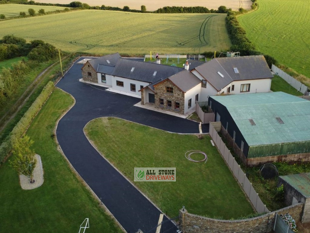
[[[200,79],[185,69],[175,75],[170,76],[168,79],[184,92],[187,92],[192,87],[201,83]]]

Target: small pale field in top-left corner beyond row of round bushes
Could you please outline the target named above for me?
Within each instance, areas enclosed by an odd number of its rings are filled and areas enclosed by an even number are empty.
[[[53,6],[35,6],[35,5],[22,5],[22,4],[2,4],[0,5],[0,14],[4,14],[6,18],[19,16],[20,11],[25,11],[27,15],[28,9],[32,8],[38,13],[39,9],[44,9],[45,12],[63,10],[65,7]]]

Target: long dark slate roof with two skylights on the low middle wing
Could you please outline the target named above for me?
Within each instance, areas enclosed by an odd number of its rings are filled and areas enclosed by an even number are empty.
[[[135,67],[133,72],[131,72],[132,67]],[[155,63],[139,62],[120,58],[114,68],[112,75],[154,83],[157,80],[164,80],[183,70],[183,68],[174,66],[165,66]],[[153,74],[155,71],[157,71],[157,73],[154,76]]]

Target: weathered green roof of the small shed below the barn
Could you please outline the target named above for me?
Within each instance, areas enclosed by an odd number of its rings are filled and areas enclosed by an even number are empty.
[[[310,172],[280,177],[305,197],[310,197]]]

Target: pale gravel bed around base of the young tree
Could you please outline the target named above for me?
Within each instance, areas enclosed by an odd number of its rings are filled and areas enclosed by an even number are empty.
[[[35,182],[30,184],[30,178],[25,175],[20,175],[20,186],[24,190],[30,190],[40,187],[43,184],[43,166],[40,155],[36,154],[35,158],[37,159],[36,167],[33,171],[33,178]]]

